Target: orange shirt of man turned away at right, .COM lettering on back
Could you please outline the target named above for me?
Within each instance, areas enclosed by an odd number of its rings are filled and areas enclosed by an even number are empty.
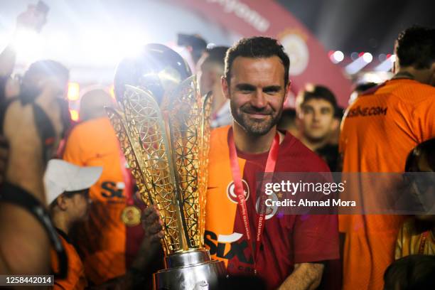
[[[361,95],[346,110],[340,134],[343,172],[404,171],[409,152],[435,136],[435,88],[395,79]],[[343,215],[343,289],[382,289],[404,217]]]

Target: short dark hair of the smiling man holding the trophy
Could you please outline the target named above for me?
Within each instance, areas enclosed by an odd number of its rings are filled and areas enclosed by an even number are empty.
[[[289,82],[290,59],[284,52],[284,47],[274,38],[256,36],[242,38],[230,49],[225,56],[225,79],[230,84],[231,66],[238,56],[244,58],[271,58],[277,56],[284,65],[284,85]]]

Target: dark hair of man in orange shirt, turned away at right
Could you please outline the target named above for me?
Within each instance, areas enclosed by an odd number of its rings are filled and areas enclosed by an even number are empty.
[[[399,33],[395,53],[402,67],[430,68],[435,62],[435,29],[412,26]]]

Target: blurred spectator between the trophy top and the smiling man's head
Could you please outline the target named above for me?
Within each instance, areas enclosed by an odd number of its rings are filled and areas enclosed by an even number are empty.
[[[227,46],[215,46],[205,51],[197,64],[198,80],[200,81],[201,95],[212,92],[212,118],[211,127],[222,127],[231,124],[230,100],[225,98],[220,85],[225,68],[225,53]]]

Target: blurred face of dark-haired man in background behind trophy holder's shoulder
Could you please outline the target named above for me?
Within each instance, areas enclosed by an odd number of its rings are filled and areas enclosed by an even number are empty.
[[[303,134],[312,141],[328,138],[335,129],[333,105],[323,99],[311,99],[301,105],[299,114]]]

